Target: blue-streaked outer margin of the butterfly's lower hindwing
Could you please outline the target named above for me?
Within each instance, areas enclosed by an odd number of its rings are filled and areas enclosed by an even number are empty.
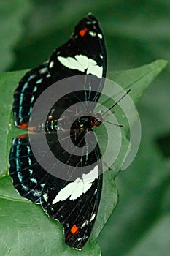
[[[37,152],[37,155],[42,156],[42,152]],[[36,162],[28,135],[20,135],[12,140],[9,163],[9,174],[15,189],[28,200],[40,203],[42,188],[50,174]]]

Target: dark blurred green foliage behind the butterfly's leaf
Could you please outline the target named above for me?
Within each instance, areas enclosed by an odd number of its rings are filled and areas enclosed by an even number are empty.
[[[109,71],[169,60],[169,9],[166,0],[1,1],[0,69],[45,61],[88,12],[104,30]],[[138,105],[142,143],[133,164],[116,178],[120,202],[99,236],[104,256],[170,254],[169,96],[168,67]]]

